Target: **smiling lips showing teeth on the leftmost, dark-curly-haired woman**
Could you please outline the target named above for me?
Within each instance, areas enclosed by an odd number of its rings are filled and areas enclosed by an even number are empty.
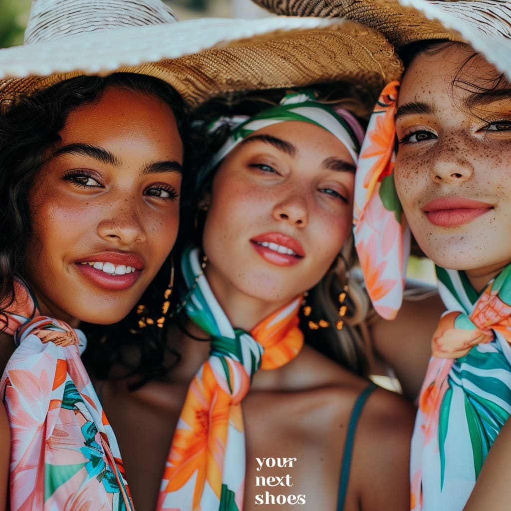
[[[112,291],[131,287],[144,269],[144,263],[134,254],[104,252],[77,263],[77,268],[92,284]]]

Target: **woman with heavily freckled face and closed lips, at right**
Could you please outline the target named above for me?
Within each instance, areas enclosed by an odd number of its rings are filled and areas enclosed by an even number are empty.
[[[392,177],[403,209],[401,225],[404,229],[406,216],[415,240],[437,265],[448,309],[432,338],[419,397],[411,508],[451,511],[464,508],[511,413],[511,84],[461,42],[412,44],[405,63],[399,95],[397,83],[389,84],[379,102],[386,108],[379,106],[374,115],[395,123]],[[382,147],[393,144],[390,124]],[[363,149],[361,161],[362,180],[368,175],[364,170],[380,169],[371,167],[369,158],[364,161]],[[380,197],[371,196],[373,202],[364,207],[365,215],[380,212],[381,223],[371,228],[384,235],[394,212],[385,211]],[[356,229],[364,229],[365,222],[359,220]],[[399,236],[390,238],[399,242]],[[363,239],[362,233],[359,242]],[[371,265],[382,263],[366,253],[364,243],[359,253],[372,257]],[[396,303],[387,297],[386,306]],[[485,484],[491,481],[486,476]],[[478,493],[479,506],[494,501],[484,499],[489,493],[490,487]]]

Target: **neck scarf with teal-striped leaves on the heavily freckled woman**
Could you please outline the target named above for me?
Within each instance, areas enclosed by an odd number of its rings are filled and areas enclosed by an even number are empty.
[[[413,433],[412,509],[456,511],[511,414],[511,265],[479,296],[463,272],[437,276],[448,312],[433,335]]]

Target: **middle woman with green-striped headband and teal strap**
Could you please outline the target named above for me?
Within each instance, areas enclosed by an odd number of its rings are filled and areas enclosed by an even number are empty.
[[[217,492],[235,509],[408,508],[412,407],[304,343],[350,331],[357,309],[339,257],[362,135],[342,108],[360,104],[354,90],[338,85],[331,104],[312,90],[258,91],[196,112],[207,143],[178,242],[165,469],[176,496],[190,474],[202,479],[194,509]]]

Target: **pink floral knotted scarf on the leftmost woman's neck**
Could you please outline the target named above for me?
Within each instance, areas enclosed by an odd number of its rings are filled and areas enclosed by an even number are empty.
[[[21,281],[14,291],[0,316],[18,344],[0,381],[11,430],[10,509],[132,509],[117,440],[80,358],[85,336],[40,316]]]

